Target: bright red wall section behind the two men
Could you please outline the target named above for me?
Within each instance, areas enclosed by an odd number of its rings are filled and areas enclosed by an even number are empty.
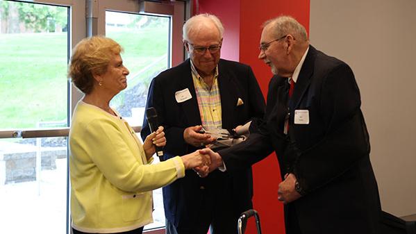
[[[222,20],[225,33],[221,57],[250,65],[265,97],[272,72],[258,60],[261,25],[278,15],[291,15],[309,29],[310,0],[194,0],[194,4],[199,7],[196,12],[212,13]],[[285,233],[283,205],[277,200],[279,174],[274,153],[253,166],[253,208],[258,211],[266,234]],[[256,233],[253,222],[246,233]]]

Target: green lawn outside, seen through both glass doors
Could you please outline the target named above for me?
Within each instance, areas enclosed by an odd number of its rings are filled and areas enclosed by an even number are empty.
[[[108,33],[135,74],[167,53],[167,30]],[[0,129],[34,128],[67,118],[67,34],[0,34]],[[138,76],[128,87],[149,82]]]

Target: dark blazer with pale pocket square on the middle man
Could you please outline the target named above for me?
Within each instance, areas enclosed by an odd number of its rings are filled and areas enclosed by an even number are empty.
[[[251,68],[238,62],[219,60],[219,92],[222,106],[222,128],[232,129],[244,124],[253,117],[263,117],[265,101]],[[192,99],[178,103],[175,92],[188,88]],[[237,106],[238,98],[243,105]],[[183,131],[189,126],[201,125],[197,97],[192,81],[190,60],[167,69],[153,79],[149,88],[147,108],[154,107],[158,121],[165,127],[167,143],[165,159],[191,153],[192,147],[183,139]],[[149,126],[144,119],[142,137],[149,135]],[[251,168],[246,167],[233,174],[213,172],[206,178],[199,178],[192,170],[185,172],[185,178],[163,188],[165,216],[175,226],[192,226],[201,217],[198,207],[201,204],[200,191],[210,194],[213,205],[220,201],[228,203],[224,209],[240,212],[251,208],[252,178]],[[225,190],[225,194],[218,194]],[[224,197],[225,196],[225,197]]]

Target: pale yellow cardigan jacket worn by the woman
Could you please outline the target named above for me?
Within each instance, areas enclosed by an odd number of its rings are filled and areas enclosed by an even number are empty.
[[[181,158],[151,165],[122,117],[79,101],[69,131],[72,227],[118,233],[153,222],[152,192],[185,176]]]

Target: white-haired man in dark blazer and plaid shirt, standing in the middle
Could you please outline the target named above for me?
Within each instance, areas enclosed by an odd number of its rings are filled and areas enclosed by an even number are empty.
[[[197,15],[183,26],[190,55],[181,65],[153,79],[147,108],[156,108],[165,127],[165,159],[202,149],[215,139],[206,131],[231,130],[263,117],[265,101],[251,68],[220,59],[224,28],[214,15]],[[149,135],[144,119],[142,137]],[[163,188],[166,230],[173,234],[237,233],[241,212],[252,207],[251,168],[215,171],[200,178],[196,171]]]

